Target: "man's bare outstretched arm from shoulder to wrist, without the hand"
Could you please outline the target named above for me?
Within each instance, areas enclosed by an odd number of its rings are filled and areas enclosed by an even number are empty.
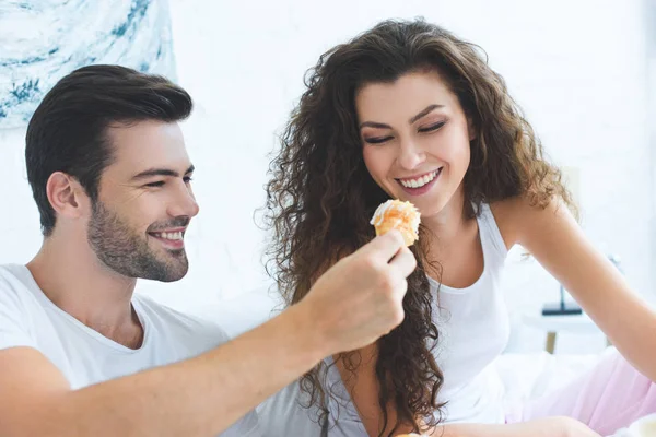
[[[298,308],[207,354],[71,391],[39,352],[0,352],[2,436],[211,436],[323,358]]]

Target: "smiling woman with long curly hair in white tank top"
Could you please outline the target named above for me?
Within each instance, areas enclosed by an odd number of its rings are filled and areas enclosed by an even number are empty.
[[[596,434],[578,421],[531,420],[569,415],[610,433],[656,411],[656,335],[644,335],[656,316],[586,240],[560,172],[477,46],[423,21],[384,22],[321,56],[306,85],[268,185],[289,304],[373,237],[368,221],[385,200],[408,200],[422,216],[403,323],[302,380],[336,418],[331,435],[586,436]],[[642,374],[611,356],[555,401],[502,410],[490,365],[508,338],[499,277],[516,244]],[[612,390],[595,393],[598,378]],[[598,410],[608,399],[610,415]]]

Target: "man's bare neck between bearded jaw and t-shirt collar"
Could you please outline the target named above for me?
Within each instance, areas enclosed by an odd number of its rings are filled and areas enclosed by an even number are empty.
[[[60,309],[117,343],[138,347],[143,329],[131,306],[137,281],[112,271],[86,241],[74,239],[46,238],[27,269]]]

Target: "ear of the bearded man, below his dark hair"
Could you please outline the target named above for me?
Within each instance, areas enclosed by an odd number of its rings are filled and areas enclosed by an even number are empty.
[[[50,175],[46,182],[46,193],[58,216],[79,218],[90,204],[84,188],[74,177],[63,172]]]

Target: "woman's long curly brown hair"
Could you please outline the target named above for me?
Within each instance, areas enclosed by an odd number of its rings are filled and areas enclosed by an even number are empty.
[[[472,208],[466,206],[464,214],[473,217],[482,203],[517,196],[542,208],[554,197],[571,204],[560,172],[543,158],[530,125],[478,46],[423,20],[379,23],[324,54],[308,71],[307,90],[271,163],[267,218],[273,240],[268,269],[289,305],[301,300],[339,258],[374,237],[368,221],[388,199],[364,165],[355,93],[366,84],[391,83],[403,74],[430,70],[446,80],[476,131],[464,179],[465,204]],[[443,375],[432,354],[438,330],[433,318],[436,296],[425,274],[432,258],[426,233],[420,229],[412,248],[418,268],[408,279],[406,318],[377,342],[384,429],[389,404],[398,412],[395,430],[400,423],[425,430],[441,417],[436,413],[443,406],[437,402]],[[352,373],[358,358],[358,352],[341,355]],[[331,394],[321,382],[325,370],[320,364],[301,381],[311,405],[324,412],[321,418],[327,414],[326,395]]]

